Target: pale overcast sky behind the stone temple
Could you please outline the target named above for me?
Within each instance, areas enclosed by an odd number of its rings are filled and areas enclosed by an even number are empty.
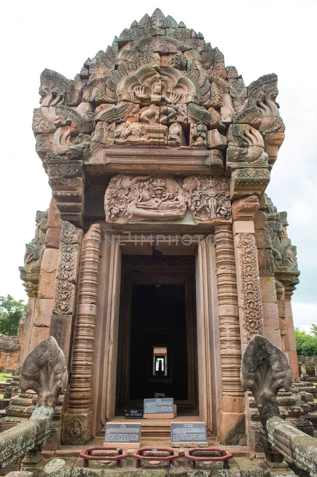
[[[317,323],[317,2],[309,0],[2,0],[0,295],[26,299],[18,267],[25,243],[34,237],[36,210],[50,203],[48,177],[31,130],[41,71],[50,68],[73,79],[88,57],[105,50],[115,35],[157,6],[201,31],[247,85],[266,73],[278,75],[277,102],[286,137],[267,194],[279,211],[287,210],[287,232],[297,246],[301,270],[292,298],[294,321],[309,330]]]

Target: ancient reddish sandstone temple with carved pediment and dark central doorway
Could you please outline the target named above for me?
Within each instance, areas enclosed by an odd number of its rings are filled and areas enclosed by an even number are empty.
[[[46,450],[84,446],[154,395],[221,444],[261,448],[240,381],[252,336],[282,348],[298,378],[296,247],[265,194],[284,139],[277,94],[276,74],[246,86],[217,47],[159,9],[74,80],[41,73],[33,132],[52,199],[20,267],[19,369],[48,336],[65,354]],[[34,404],[9,388],[0,431]],[[304,412],[295,403],[281,393],[292,422]],[[169,432],[170,421],[141,426],[158,440]]]

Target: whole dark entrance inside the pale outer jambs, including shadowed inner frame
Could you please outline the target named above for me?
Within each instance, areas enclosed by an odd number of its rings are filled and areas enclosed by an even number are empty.
[[[154,396],[199,414],[195,294],[194,257],[122,257],[116,415]]]

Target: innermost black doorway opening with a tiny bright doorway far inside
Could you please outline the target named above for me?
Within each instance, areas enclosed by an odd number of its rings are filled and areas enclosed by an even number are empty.
[[[188,398],[184,285],[133,285],[130,399]]]

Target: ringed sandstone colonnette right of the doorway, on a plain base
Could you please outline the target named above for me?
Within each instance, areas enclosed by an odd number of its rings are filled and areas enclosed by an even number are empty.
[[[220,442],[236,444],[245,438],[245,415],[232,226],[216,227],[215,237],[222,383]]]

